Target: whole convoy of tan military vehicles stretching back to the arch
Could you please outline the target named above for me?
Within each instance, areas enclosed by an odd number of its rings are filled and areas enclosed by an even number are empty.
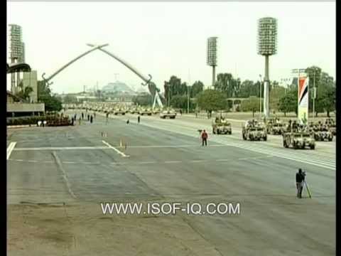
[[[109,112],[110,114],[141,114],[149,115],[159,114],[161,119],[175,119],[176,112],[174,110],[161,110],[148,107],[136,107],[131,106],[117,107],[114,104],[105,103],[87,103],[82,105],[76,104],[65,104],[63,105],[65,110],[90,110],[96,112]],[[265,122],[265,121],[264,121]],[[242,139],[250,141],[267,141],[268,134],[282,135],[283,146],[285,148],[292,147],[294,149],[315,149],[315,142],[332,142],[333,137],[336,135],[336,124],[335,120],[328,118],[325,122],[318,122],[303,126],[298,124],[296,121],[289,121],[288,124],[281,122],[278,118],[269,119],[268,122],[259,122],[255,119],[248,120],[242,126]],[[217,117],[212,122],[212,134],[232,134],[231,123],[227,122],[224,117]]]

